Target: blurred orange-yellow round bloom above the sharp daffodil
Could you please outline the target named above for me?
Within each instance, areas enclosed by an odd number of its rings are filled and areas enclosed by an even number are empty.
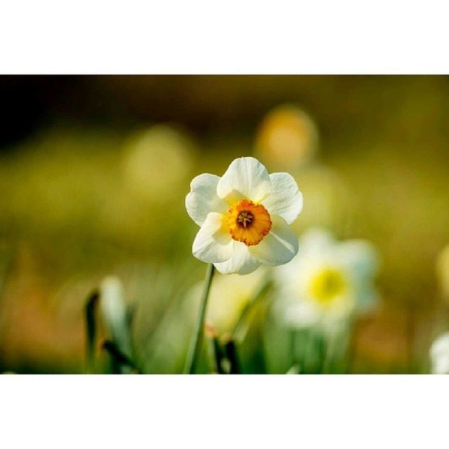
[[[318,129],[310,116],[295,105],[272,109],[256,134],[257,156],[272,170],[295,170],[313,158]]]

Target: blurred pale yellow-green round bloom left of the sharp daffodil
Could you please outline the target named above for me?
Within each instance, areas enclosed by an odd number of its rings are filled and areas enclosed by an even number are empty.
[[[124,154],[126,182],[137,194],[166,200],[184,187],[192,168],[193,148],[185,133],[167,124],[135,133]]]

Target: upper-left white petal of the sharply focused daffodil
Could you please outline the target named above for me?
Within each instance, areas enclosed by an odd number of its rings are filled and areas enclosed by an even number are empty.
[[[185,197],[185,208],[196,225],[203,225],[210,212],[225,213],[227,204],[217,196],[220,177],[203,173],[190,183],[190,193]]]

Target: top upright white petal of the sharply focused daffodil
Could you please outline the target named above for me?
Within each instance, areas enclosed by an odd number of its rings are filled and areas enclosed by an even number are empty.
[[[217,194],[227,202],[262,201],[270,191],[267,168],[253,157],[234,159],[217,184]]]

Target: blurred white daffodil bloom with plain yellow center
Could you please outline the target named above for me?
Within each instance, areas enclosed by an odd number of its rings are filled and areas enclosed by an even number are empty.
[[[276,269],[279,300],[275,313],[287,326],[326,325],[368,311],[377,293],[377,254],[367,241],[335,241],[314,229],[300,239],[301,254]]]

